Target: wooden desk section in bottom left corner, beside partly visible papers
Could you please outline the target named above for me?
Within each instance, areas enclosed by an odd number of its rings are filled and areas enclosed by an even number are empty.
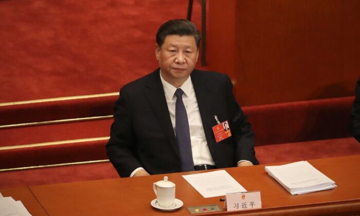
[[[0,192],[4,197],[11,196],[16,201],[20,200],[33,216],[48,215],[28,187],[5,188],[0,189]]]

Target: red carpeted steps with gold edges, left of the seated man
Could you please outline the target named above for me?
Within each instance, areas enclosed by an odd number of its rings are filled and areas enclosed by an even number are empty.
[[[7,118],[0,125],[0,187],[118,177],[105,152],[117,98],[114,93],[1,104]]]

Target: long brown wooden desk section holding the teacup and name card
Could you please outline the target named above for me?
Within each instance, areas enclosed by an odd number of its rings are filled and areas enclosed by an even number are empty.
[[[340,214],[360,212],[360,155],[308,160],[333,179],[335,189],[291,195],[264,170],[264,165],[225,169],[246,190],[260,190],[262,209],[220,214],[287,215]],[[284,164],[284,163],[281,163]],[[275,164],[274,164],[275,165]],[[276,164],[278,165],[278,164]],[[197,173],[205,171],[197,171]],[[191,172],[192,174],[195,172]],[[167,174],[176,184],[176,197],[184,202],[171,215],[187,215],[186,206],[220,204],[220,197],[205,199],[182,177],[188,173]],[[165,175],[115,178],[99,181],[29,187],[49,215],[160,215],[169,214],[151,207],[155,199],[153,182]]]

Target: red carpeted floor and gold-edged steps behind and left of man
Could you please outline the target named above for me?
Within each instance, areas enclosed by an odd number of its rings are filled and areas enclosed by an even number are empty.
[[[118,177],[105,144],[119,88],[157,67],[156,30],[188,3],[0,1],[0,187]]]

